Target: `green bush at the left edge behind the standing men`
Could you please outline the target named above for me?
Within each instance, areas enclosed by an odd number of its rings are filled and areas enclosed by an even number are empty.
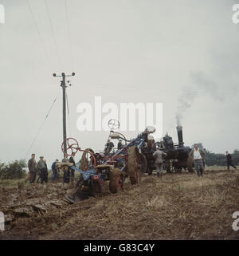
[[[15,160],[12,163],[0,163],[0,179],[22,179],[26,176],[25,160]]]

